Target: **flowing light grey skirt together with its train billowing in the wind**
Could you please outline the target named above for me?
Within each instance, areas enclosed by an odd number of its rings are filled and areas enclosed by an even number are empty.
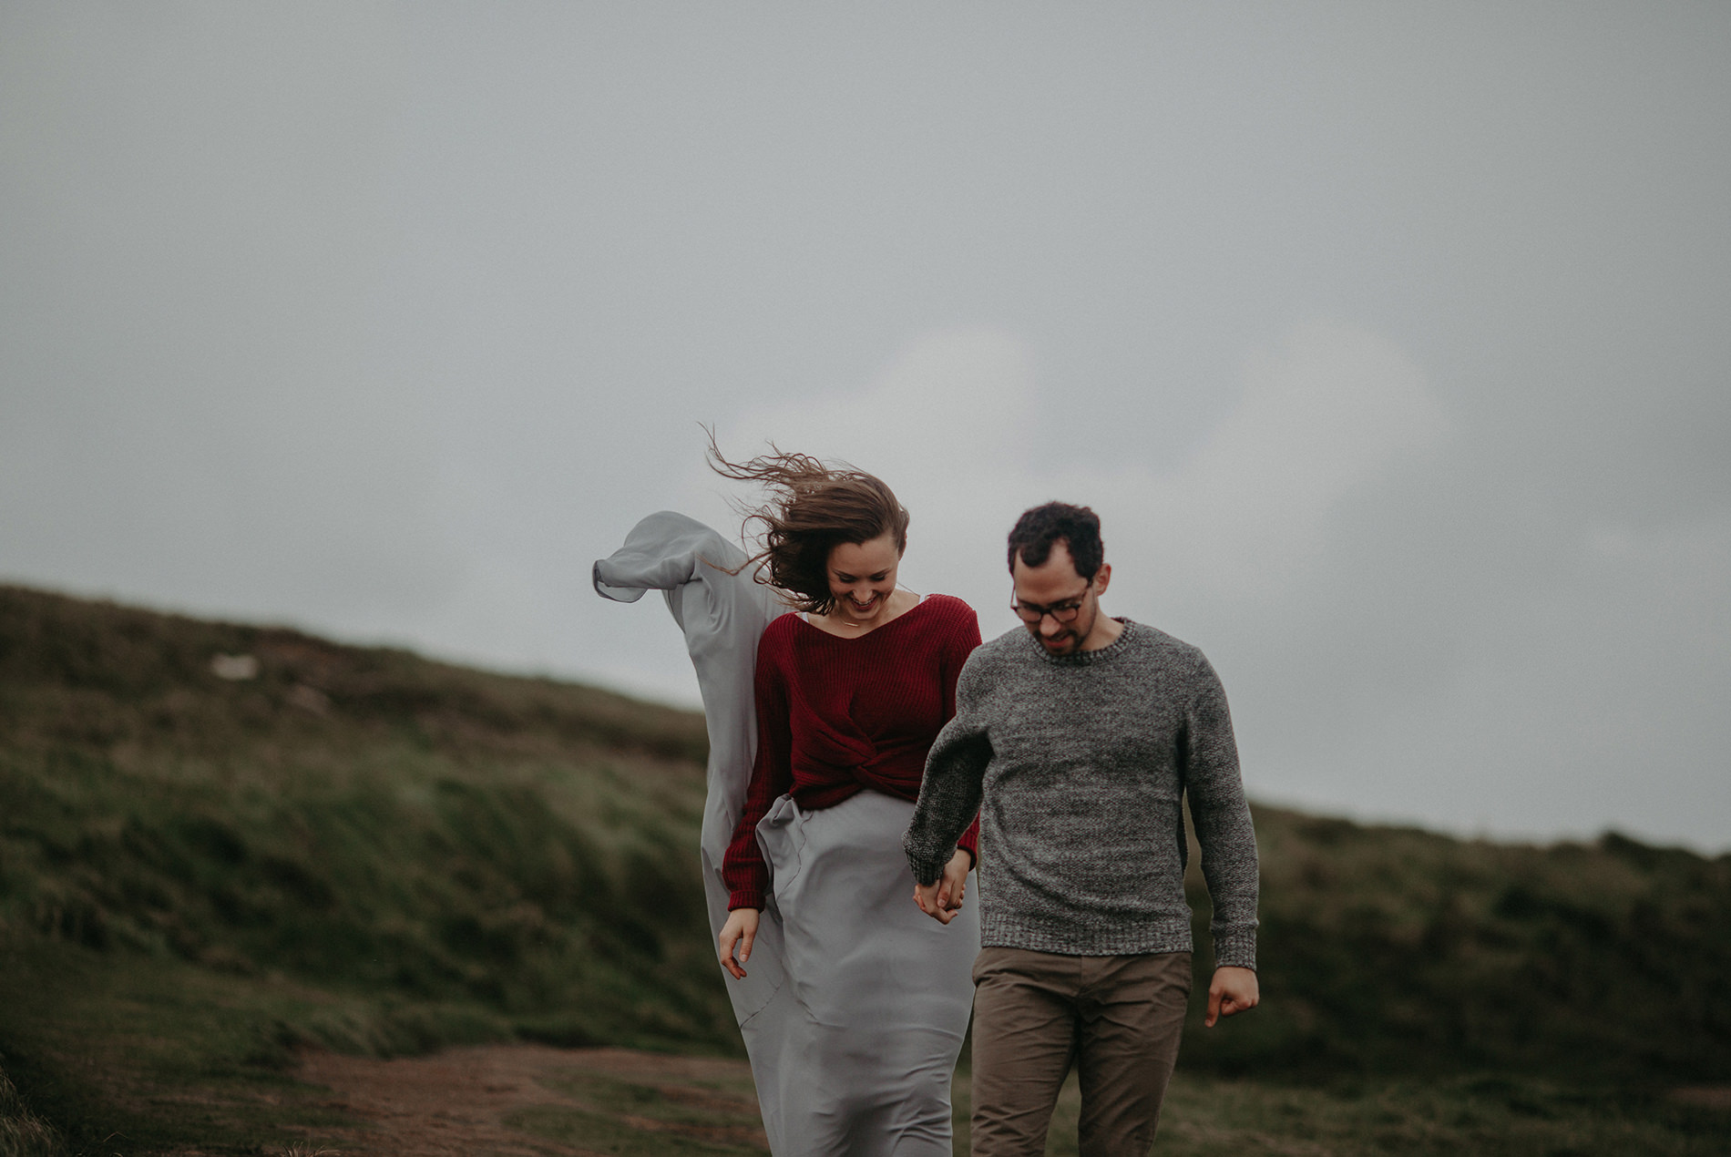
[[[710,731],[703,887],[710,930],[727,920],[722,857],[756,755],[758,637],[781,613],[744,553],[661,511],[594,566],[595,591],[661,591],[685,634]],[[720,566],[717,566],[720,565]],[[758,824],[770,901],[746,979],[722,973],[777,1157],[949,1157],[950,1074],[973,1003],[978,892],[947,927],[914,908],[902,833],[914,805],[860,792],[801,811],[779,798]],[[720,961],[717,961],[720,970]]]

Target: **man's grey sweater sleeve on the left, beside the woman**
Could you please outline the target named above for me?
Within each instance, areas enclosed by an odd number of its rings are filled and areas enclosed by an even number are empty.
[[[969,658],[956,681],[956,715],[943,724],[926,755],[914,821],[902,837],[902,850],[917,883],[935,883],[943,875],[943,866],[956,854],[956,840],[980,811],[980,785],[992,760],[983,715],[985,684],[980,663]]]

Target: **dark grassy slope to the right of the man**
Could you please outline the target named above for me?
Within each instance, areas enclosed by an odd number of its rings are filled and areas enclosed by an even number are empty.
[[[1501,845],[1257,809],[1264,1006],[1203,1032],[1222,1076],[1494,1069],[1731,1079],[1731,856],[1605,835]],[[1207,894],[1189,880],[1198,944]]]

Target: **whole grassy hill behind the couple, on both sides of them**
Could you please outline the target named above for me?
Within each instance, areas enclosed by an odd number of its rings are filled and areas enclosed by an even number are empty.
[[[737,1050],[703,759],[691,712],[0,587],[0,1157],[253,1152],[301,1044]],[[1186,1069],[1731,1079],[1731,857],[1257,828],[1265,1006]]]

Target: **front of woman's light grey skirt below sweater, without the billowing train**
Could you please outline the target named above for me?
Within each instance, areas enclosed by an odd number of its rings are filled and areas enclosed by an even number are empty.
[[[758,823],[772,876],[763,918],[781,927],[791,999],[741,1027],[777,1154],[950,1157],[978,892],[969,878],[949,925],[914,906],[902,852],[912,814],[878,792],[820,811],[784,795]]]

